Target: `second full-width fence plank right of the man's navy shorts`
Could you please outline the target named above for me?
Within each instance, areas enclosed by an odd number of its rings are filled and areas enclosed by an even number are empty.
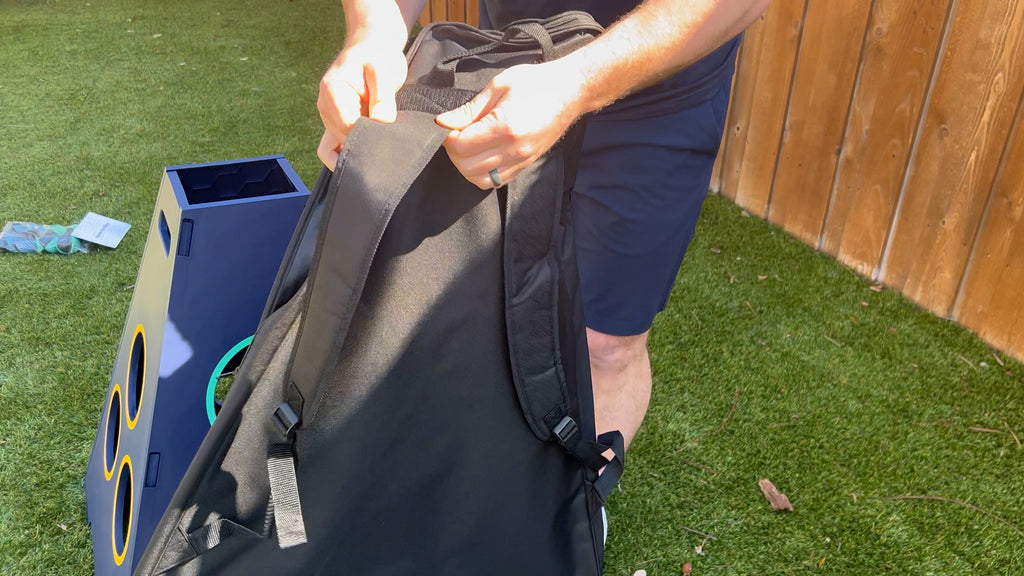
[[[817,245],[833,189],[870,0],[810,2],[768,219]]]

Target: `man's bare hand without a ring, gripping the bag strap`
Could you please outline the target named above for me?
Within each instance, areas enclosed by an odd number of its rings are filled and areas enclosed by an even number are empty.
[[[406,56],[390,43],[358,42],[338,55],[321,80],[316,108],[324,137],[316,155],[334,169],[345,138],[360,116],[394,122],[394,94],[406,82]]]

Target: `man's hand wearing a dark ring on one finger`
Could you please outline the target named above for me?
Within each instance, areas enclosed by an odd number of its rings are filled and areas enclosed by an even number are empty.
[[[578,73],[553,60],[510,68],[472,100],[437,117],[460,172],[482,190],[507,182],[547,152],[583,113]]]

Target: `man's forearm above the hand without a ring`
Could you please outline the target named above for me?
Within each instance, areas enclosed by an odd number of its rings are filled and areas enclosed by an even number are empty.
[[[427,0],[342,0],[346,44],[364,40],[395,44],[401,49]]]

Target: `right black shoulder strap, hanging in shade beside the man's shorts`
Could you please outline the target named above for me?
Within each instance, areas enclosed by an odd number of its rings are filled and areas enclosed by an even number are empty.
[[[571,279],[560,278],[565,272],[561,258],[569,248],[566,243],[573,241],[570,229],[561,222],[567,199],[563,189],[566,154],[571,153],[563,150],[566,140],[508,184],[504,250],[506,330],[512,378],[530,429],[543,441],[560,444],[588,468],[594,471],[604,468],[598,490],[603,499],[622,475],[625,455],[622,435],[602,435],[594,442],[589,440],[593,430],[585,433],[582,422],[573,419],[578,410],[570,406],[567,378],[577,379],[577,389],[592,384],[589,378],[580,381],[579,374],[571,369],[566,374],[565,364],[569,359],[563,358],[563,354],[572,355],[573,346],[571,342],[559,341],[563,337],[559,330],[563,317],[573,315],[571,310],[561,310],[570,298],[560,297],[559,291],[577,285]],[[609,449],[615,454],[611,459],[606,456]]]

